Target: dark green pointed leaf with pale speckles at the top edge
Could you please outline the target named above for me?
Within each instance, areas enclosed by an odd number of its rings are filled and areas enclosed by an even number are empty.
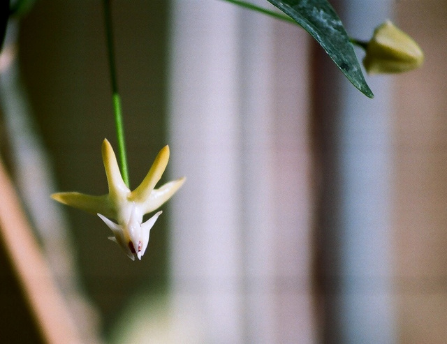
[[[326,0],[268,0],[309,32],[362,94],[374,98],[342,20]]]

